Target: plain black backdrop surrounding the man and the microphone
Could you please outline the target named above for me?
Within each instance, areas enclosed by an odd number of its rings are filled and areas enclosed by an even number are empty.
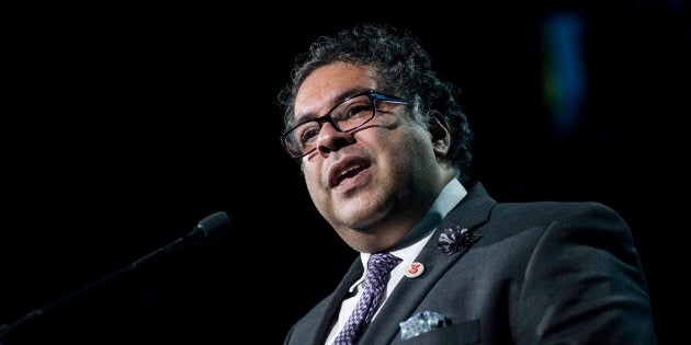
[[[597,200],[624,216],[659,341],[675,338],[688,272],[689,7],[510,3],[8,12],[0,324],[212,212],[233,228],[53,309],[5,345],[281,343],[355,253],[283,153],[273,101],[313,38],[361,21],[411,30],[461,85],[475,173],[496,199]],[[543,99],[555,13],[584,28],[587,94],[567,134]]]

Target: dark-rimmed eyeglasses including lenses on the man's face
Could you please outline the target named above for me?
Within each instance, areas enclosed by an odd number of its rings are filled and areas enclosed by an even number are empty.
[[[298,123],[281,136],[281,143],[292,158],[301,158],[317,149],[319,130],[330,123],[336,130],[348,133],[362,127],[376,116],[381,103],[410,104],[410,102],[376,91],[358,93],[333,106],[324,116]]]

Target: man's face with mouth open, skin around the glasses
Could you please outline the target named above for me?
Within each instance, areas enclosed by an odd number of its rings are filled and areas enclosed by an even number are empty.
[[[322,116],[343,99],[377,87],[369,67],[320,67],[297,92],[296,120]],[[439,192],[439,165],[427,126],[411,119],[408,105],[382,103],[376,114],[350,133],[325,123],[317,149],[302,158],[317,209],[360,251],[393,244]]]

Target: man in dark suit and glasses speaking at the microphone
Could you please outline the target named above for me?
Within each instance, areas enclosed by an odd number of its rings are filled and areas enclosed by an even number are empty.
[[[315,41],[280,94],[286,152],[360,253],[285,344],[655,344],[625,221],[494,200],[430,61],[408,33],[360,25]]]

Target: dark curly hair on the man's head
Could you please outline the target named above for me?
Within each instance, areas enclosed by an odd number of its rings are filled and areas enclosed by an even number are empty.
[[[456,169],[461,182],[471,181],[473,131],[458,102],[460,88],[432,69],[429,53],[417,37],[390,25],[359,24],[333,36],[320,36],[307,53],[297,56],[291,81],[277,95],[284,129],[294,122],[295,95],[305,78],[336,61],[371,67],[382,85],[378,91],[414,102],[414,116],[421,123],[430,120],[434,112],[443,114],[451,131],[451,147],[443,160]]]

